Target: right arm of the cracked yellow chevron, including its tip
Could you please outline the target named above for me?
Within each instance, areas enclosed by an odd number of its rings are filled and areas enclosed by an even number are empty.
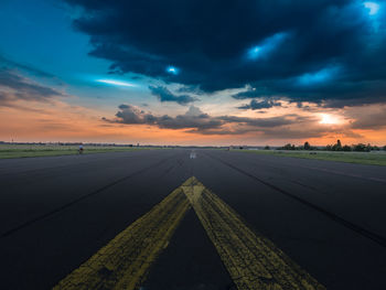
[[[182,189],[238,290],[324,290],[194,176]]]

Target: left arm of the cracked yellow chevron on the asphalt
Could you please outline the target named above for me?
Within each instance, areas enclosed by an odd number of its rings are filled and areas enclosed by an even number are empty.
[[[190,208],[181,187],[118,234],[54,290],[138,289]]]

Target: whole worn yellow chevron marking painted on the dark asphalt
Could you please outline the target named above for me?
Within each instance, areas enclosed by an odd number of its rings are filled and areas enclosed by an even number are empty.
[[[187,198],[186,198],[187,197]],[[238,290],[325,290],[194,176],[64,278],[54,290],[135,290],[193,206]],[[200,267],[200,265],[197,265]]]

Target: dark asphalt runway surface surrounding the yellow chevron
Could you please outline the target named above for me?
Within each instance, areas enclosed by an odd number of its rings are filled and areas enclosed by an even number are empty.
[[[1,288],[52,289],[192,176],[326,289],[386,289],[385,167],[191,149],[0,160]],[[237,289],[191,204],[142,289]]]

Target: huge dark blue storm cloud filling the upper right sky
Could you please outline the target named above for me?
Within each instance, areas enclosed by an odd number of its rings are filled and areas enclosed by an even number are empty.
[[[115,73],[317,103],[386,98],[385,6],[371,15],[360,0],[67,2],[83,7],[74,26]]]

